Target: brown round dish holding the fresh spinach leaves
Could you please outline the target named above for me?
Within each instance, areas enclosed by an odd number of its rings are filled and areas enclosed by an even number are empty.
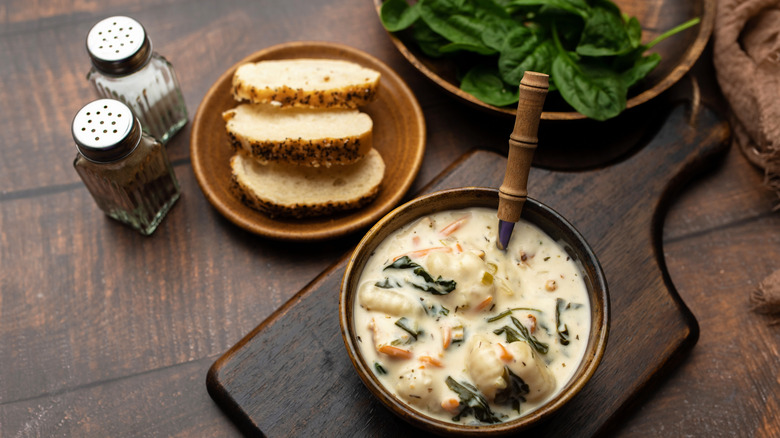
[[[672,36],[650,52],[661,55],[661,63],[642,84],[628,94],[626,109],[633,108],[658,96],[674,85],[690,70],[701,55],[712,33],[715,22],[715,0],[613,0],[621,11],[636,17],[642,25],[642,42],[648,43],[663,32],[691,18],[700,17],[698,26]],[[374,0],[377,12],[384,0]],[[455,63],[449,59],[434,59],[419,50],[416,43],[400,32],[390,33],[390,39],[401,54],[428,79],[459,100],[479,109],[514,117],[516,107],[488,105],[459,88]],[[556,99],[557,98],[557,99]],[[559,96],[550,95],[545,102],[543,120],[577,120],[585,116],[572,110]]]

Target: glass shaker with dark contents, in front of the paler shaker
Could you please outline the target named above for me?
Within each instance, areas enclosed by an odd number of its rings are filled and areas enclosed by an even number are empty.
[[[179,199],[165,147],[146,135],[130,108],[114,99],[85,105],[71,126],[73,167],[108,216],[149,235]]]

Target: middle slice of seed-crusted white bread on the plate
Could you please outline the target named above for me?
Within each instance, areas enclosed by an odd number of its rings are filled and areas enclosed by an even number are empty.
[[[233,147],[263,162],[350,164],[371,149],[373,140],[373,121],[358,110],[241,104],[222,117]]]

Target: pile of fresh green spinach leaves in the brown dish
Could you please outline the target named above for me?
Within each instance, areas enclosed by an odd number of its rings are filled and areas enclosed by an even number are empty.
[[[391,32],[411,26],[427,56],[464,66],[461,89],[485,103],[516,103],[530,70],[549,74],[550,91],[596,120],[625,109],[629,87],[659,63],[659,55],[645,55],[650,48],[700,21],[642,45],[639,21],[612,0],[387,0],[380,16]]]

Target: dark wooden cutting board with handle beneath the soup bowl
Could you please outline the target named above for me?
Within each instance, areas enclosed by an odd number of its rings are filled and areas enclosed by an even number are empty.
[[[696,343],[698,325],[664,266],[667,207],[697,172],[728,148],[727,123],[701,107],[673,107],[646,144],[609,167],[580,172],[533,168],[530,196],[557,210],[587,239],[609,284],[612,321],[593,379],[534,432],[593,436],[609,430]],[[540,135],[540,149],[546,147]],[[424,192],[498,187],[506,159],[473,151]],[[363,386],[347,356],[338,295],[349,254],[217,360],[207,388],[249,435],[413,436]]]

